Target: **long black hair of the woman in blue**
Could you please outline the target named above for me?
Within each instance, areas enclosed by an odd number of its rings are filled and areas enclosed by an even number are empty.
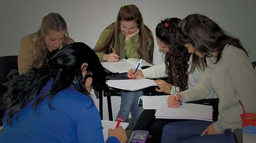
[[[9,83],[8,91],[0,100],[5,109],[1,119],[7,116],[6,122],[12,125],[12,117],[16,120],[18,113],[29,103],[33,102],[33,111],[47,99],[49,108],[55,95],[73,85],[76,90],[90,96],[85,89],[85,79],[82,77],[82,63],[88,63],[87,72],[93,78],[92,86],[99,90],[105,85],[105,72],[98,56],[86,44],[77,42],[69,44],[59,50],[55,55],[48,56],[41,68],[32,68],[23,75],[18,75]],[[51,88],[40,94],[47,81],[53,80]]]

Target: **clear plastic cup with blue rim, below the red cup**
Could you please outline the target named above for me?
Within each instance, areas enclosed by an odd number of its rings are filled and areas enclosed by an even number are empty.
[[[243,143],[255,143],[256,126],[245,126],[243,128]]]

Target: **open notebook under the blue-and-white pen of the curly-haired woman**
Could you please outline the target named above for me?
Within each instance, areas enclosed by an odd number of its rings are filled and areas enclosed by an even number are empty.
[[[136,91],[146,87],[156,86],[154,80],[149,80],[146,78],[136,78],[133,80],[107,80],[106,84],[114,88],[130,91]]]

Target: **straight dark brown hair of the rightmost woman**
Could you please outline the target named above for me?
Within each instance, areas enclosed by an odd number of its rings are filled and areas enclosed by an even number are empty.
[[[184,18],[179,24],[177,35],[180,44],[192,44],[195,50],[206,53],[205,57],[211,57],[210,53],[217,52],[215,63],[218,63],[227,44],[240,48],[247,54],[239,39],[227,35],[218,24],[201,14],[190,14]],[[203,66],[207,66],[205,58],[201,61]]]

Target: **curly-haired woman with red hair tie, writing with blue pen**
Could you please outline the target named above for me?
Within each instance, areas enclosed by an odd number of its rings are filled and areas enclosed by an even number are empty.
[[[177,25],[181,20],[178,18],[169,18],[161,21],[155,28],[159,49],[163,50],[165,63],[155,65],[147,69],[138,70],[133,74],[135,69],[128,71],[128,77],[133,78],[155,78],[168,76],[168,82],[164,80],[155,80],[157,92],[164,92],[170,95],[169,86],[174,87],[177,92],[182,92],[191,86],[195,86],[203,75],[204,66],[200,66],[200,59],[194,54],[190,56],[186,47],[176,44]],[[189,64],[192,60],[197,61],[197,65],[192,68]],[[207,98],[213,98],[212,91]],[[161,141],[163,126],[172,119],[155,119],[155,110],[144,110],[137,120],[134,130],[146,130],[152,137],[148,142],[156,143]]]

